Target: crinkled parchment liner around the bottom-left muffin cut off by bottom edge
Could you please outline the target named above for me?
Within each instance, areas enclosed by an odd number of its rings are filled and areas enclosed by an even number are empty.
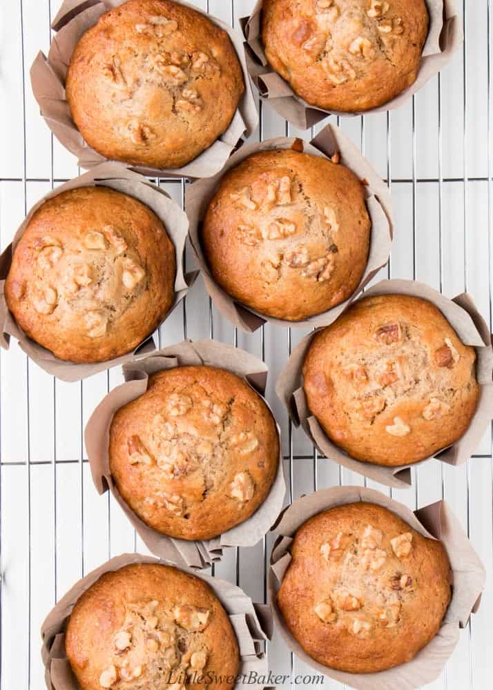
[[[112,558],[104,565],[79,580],[66,595],[59,600],[55,608],[48,613],[41,627],[41,658],[45,667],[45,681],[48,690],[80,690],[65,652],[65,630],[70,613],[79,597],[94,584],[104,573],[109,573],[131,563],[160,563],[156,558],[126,553]],[[271,607],[265,604],[254,604],[252,600],[237,586],[211,578],[203,573],[183,569],[186,573],[201,578],[211,586],[229,616],[240,647],[240,674],[249,675],[251,671],[258,676],[267,676],[267,656],[261,651],[265,640],[272,637]],[[217,671],[220,673],[220,669]],[[251,684],[257,690],[264,685]],[[240,686],[240,683],[237,684]],[[250,687],[250,684],[249,684]],[[267,690],[267,687],[266,687]]]

